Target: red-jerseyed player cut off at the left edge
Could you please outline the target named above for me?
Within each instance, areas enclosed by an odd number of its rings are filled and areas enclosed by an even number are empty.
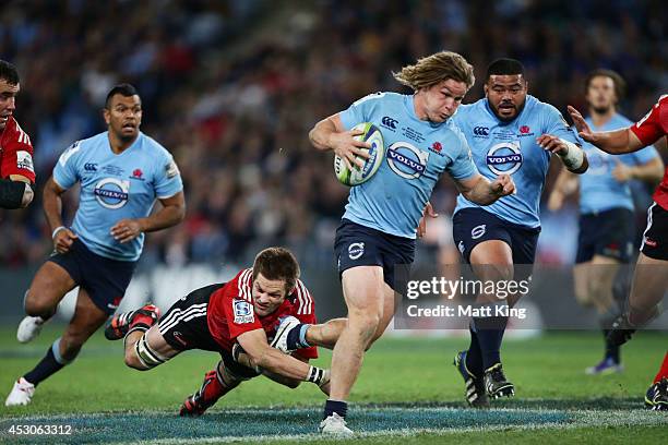
[[[33,201],[33,145],[12,116],[21,89],[16,68],[0,60],[0,208],[27,207]]]

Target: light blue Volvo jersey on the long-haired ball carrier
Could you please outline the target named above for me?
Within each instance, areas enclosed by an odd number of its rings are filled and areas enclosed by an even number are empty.
[[[377,93],[339,113],[350,130],[372,122],[383,134],[385,159],[367,182],[350,188],[344,218],[404,238],[416,238],[425,205],[444,171],[454,179],[477,175],[462,132],[449,121],[415,115],[413,95]]]

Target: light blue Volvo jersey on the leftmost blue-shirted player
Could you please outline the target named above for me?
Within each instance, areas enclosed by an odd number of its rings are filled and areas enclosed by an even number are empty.
[[[81,182],[72,230],[94,253],[120,261],[140,257],[144,233],[121,244],[111,227],[121,219],[148,216],[156,199],[183,190],[169,152],[141,132],[118,155],[111,152],[108,132],[75,142],[60,155],[53,180],[63,189]]]

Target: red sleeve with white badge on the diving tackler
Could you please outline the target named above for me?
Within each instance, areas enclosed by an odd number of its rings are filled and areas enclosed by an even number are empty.
[[[232,341],[243,333],[263,328],[253,309],[250,284],[252,273],[249,270],[238,277],[238,289],[230,289],[223,297],[223,311],[229,328],[229,339]]]

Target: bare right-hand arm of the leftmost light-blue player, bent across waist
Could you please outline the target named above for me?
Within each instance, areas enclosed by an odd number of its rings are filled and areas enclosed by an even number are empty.
[[[155,214],[146,218],[121,219],[111,228],[111,234],[121,243],[132,241],[142,232],[166,229],[183,220],[186,216],[186,200],[183,192],[158,200],[163,205]]]

